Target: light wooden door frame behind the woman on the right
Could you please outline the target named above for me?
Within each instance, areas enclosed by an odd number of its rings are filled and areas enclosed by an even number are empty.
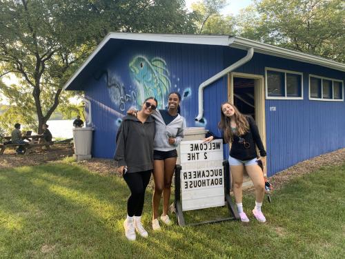
[[[228,102],[234,103],[234,77],[254,79],[255,122],[266,149],[265,80],[263,75],[228,73]]]

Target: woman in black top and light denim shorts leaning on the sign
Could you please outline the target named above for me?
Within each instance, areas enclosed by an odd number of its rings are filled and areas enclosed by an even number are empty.
[[[257,164],[259,149],[263,166],[266,166],[266,151],[252,117],[242,115],[238,109],[228,102],[221,104],[221,121],[219,128],[223,132],[224,143],[231,143],[229,164],[233,178],[233,192],[239,217],[242,222],[249,222],[242,205],[242,182],[244,169],[253,181],[255,187],[255,208],[253,215],[259,222],[266,222],[261,207],[265,195],[265,182],[262,169]],[[215,136],[210,136],[205,141],[211,141]]]

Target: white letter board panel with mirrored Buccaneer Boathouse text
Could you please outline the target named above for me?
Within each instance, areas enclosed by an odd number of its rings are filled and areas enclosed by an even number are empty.
[[[223,141],[182,141],[182,211],[224,206]]]

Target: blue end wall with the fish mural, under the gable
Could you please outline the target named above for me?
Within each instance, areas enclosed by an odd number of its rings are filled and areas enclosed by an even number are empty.
[[[204,122],[195,122],[195,117],[198,113],[199,84],[223,69],[223,48],[128,41],[109,55],[112,59],[104,64],[103,68],[99,68],[95,75],[90,75],[84,88],[86,97],[92,102],[92,122],[95,125],[92,154],[95,157],[112,157],[115,151],[115,135],[121,123],[121,117],[131,106],[138,107],[139,81],[135,75],[135,69],[139,69],[137,61],[141,61],[150,69],[155,67],[148,66],[147,63],[153,65],[157,60],[161,61],[164,68],[158,68],[155,72],[161,76],[161,79],[164,79],[163,75],[168,76],[170,82],[165,81],[168,92],[177,91],[181,94],[181,115],[186,118],[187,126],[204,126],[218,133],[219,104],[225,102],[227,98],[226,78],[206,88]],[[148,82],[154,81],[151,78],[151,72],[146,70],[143,74],[137,75],[141,77],[142,84],[150,84]],[[119,93],[118,89],[122,86],[126,90],[124,93]],[[155,87],[161,86],[156,84]],[[148,95],[151,94],[148,93]],[[124,98],[119,99],[119,96]],[[165,101],[167,99],[168,94],[165,96]],[[160,100],[159,102],[162,103]]]

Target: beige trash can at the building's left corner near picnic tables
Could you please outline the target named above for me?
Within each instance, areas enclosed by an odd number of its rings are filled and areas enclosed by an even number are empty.
[[[73,142],[75,144],[75,160],[88,160],[91,158],[93,128],[73,128]]]

